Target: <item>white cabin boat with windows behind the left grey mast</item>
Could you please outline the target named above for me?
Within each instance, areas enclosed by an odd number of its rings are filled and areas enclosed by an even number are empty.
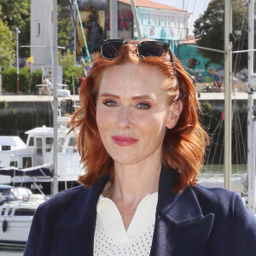
[[[84,172],[79,166],[77,138],[73,132],[68,133],[67,119],[59,118],[57,128],[58,183],[61,190],[74,186]],[[26,131],[26,135],[26,143],[20,137],[0,137],[0,183],[26,186],[34,192],[41,189],[50,195],[54,128],[36,127]]]

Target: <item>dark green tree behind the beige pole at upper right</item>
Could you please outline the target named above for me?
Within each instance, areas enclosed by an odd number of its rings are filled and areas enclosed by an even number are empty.
[[[207,10],[195,20],[195,38],[198,46],[224,50],[224,1],[212,0]],[[247,3],[245,0],[233,1],[233,50],[247,49]],[[209,62],[223,64],[224,55],[205,49],[198,49]],[[247,54],[234,55],[233,67],[247,66]],[[239,62],[239,64],[238,64]],[[235,67],[236,70],[239,67]]]

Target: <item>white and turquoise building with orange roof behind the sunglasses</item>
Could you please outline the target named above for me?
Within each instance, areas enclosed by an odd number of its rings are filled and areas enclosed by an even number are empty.
[[[131,10],[131,0],[118,0],[118,3],[120,14],[123,14],[123,9],[125,9],[125,13],[127,13],[127,9]],[[169,43],[172,50],[176,52],[177,45],[188,37],[190,13],[183,9],[149,0],[137,0],[136,7],[143,38],[152,38]],[[126,22],[125,19],[123,20]],[[119,21],[119,24],[127,24],[124,21],[122,23]],[[121,34],[120,38],[123,38]],[[135,24],[133,25],[132,38],[138,38]]]

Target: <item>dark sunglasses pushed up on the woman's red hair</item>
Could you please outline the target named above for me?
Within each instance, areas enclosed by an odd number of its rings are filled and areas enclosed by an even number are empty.
[[[99,43],[99,47],[101,49],[102,57],[108,60],[116,59],[119,49],[121,49],[121,47],[125,44],[129,43],[122,39],[107,39],[101,41]],[[137,55],[140,58],[145,58],[148,56],[161,57],[164,53],[166,53],[166,51],[169,51],[172,65],[174,67],[174,73],[177,75],[170,44],[160,41],[143,41],[142,43],[137,44]]]

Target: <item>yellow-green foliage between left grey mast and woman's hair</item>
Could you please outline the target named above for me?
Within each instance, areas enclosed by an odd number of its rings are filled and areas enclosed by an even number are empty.
[[[83,68],[81,66],[74,66],[74,54],[67,49],[67,53],[61,55],[61,52],[58,54],[59,65],[62,66],[63,73],[63,81],[68,85],[68,89],[71,90],[73,94],[73,82],[75,87],[75,92],[78,92],[78,88],[80,86],[79,83],[79,75],[83,72]]]

